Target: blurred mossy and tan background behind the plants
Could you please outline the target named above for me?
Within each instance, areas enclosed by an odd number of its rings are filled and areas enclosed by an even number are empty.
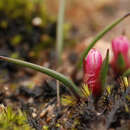
[[[66,0],[63,60],[68,52],[83,51],[84,44],[112,21],[130,11],[130,0]],[[0,0],[0,55],[42,64],[55,61],[56,28],[59,0]],[[102,51],[113,37],[130,38],[127,18],[100,42]],[[106,44],[104,44],[106,43]],[[107,44],[108,43],[108,44]],[[70,59],[75,62],[71,54]],[[16,72],[12,64],[1,63],[1,69]]]

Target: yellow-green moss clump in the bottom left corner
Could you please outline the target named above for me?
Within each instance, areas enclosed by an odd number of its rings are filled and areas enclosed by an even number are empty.
[[[21,110],[0,105],[0,130],[33,130],[28,124],[27,116]]]

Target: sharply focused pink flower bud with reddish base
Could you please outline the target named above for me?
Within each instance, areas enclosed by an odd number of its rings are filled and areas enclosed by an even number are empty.
[[[100,70],[102,56],[100,52],[91,49],[83,61],[84,83],[92,90],[94,97],[101,95]]]

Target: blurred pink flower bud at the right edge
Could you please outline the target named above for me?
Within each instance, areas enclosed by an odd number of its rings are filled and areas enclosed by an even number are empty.
[[[112,40],[112,50],[114,56],[111,64],[115,72],[119,73],[120,71],[124,71],[125,69],[130,67],[128,58],[129,47],[130,42],[125,36],[120,36]],[[123,70],[120,70],[119,65],[117,64],[117,58],[119,54],[122,54],[125,61],[125,68]]]

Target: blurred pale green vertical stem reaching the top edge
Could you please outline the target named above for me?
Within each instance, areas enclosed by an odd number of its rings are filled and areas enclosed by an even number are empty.
[[[58,63],[61,62],[61,54],[63,49],[63,27],[64,27],[63,24],[64,24],[65,1],[66,0],[60,0],[60,5],[59,5],[58,24],[57,24],[57,42],[56,42]]]

